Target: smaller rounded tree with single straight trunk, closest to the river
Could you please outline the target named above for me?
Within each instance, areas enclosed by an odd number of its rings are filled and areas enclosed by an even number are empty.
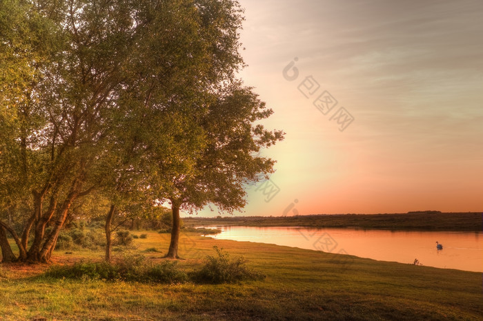
[[[213,94],[206,113],[196,115],[192,126],[203,132],[204,144],[186,160],[188,170],[176,174],[170,171],[172,163],[163,159],[157,163],[170,177],[161,187],[173,217],[167,257],[178,258],[180,209],[193,212],[206,205],[230,213],[242,209],[244,186],[273,172],[275,161],[257,156],[261,148],[283,139],[283,132],[266,130],[259,123],[272,112],[252,88],[235,81]]]

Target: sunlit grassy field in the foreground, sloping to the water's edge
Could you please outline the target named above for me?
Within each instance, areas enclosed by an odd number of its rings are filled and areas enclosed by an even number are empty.
[[[160,261],[169,235],[135,239]],[[181,235],[179,265],[199,267],[213,246],[243,255],[266,280],[146,284],[57,280],[47,265],[0,265],[0,320],[483,320],[482,273],[378,262],[253,242]],[[119,252],[115,252],[120,255]],[[58,264],[101,251],[55,252]]]

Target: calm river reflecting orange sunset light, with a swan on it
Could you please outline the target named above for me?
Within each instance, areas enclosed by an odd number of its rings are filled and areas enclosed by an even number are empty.
[[[482,232],[375,231],[306,227],[233,227],[213,238],[348,253],[361,258],[483,272]],[[443,245],[436,249],[436,241]]]

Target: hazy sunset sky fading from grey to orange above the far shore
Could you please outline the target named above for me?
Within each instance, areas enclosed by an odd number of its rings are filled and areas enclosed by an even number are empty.
[[[250,187],[235,215],[483,210],[483,1],[240,3],[240,76],[286,139],[262,152],[278,193]]]

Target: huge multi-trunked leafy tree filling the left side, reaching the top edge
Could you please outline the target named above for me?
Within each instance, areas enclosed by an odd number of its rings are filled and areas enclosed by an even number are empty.
[[[206,112],[233,78],[240,19],[228,0],[2,1],[0,226],[20,260],[50,260],[72,204],[119,164],[113,153],[155,149],[189,172],[204,139],[187,111]],[[125,169],[168,183],[131,154],[119,154]]]

